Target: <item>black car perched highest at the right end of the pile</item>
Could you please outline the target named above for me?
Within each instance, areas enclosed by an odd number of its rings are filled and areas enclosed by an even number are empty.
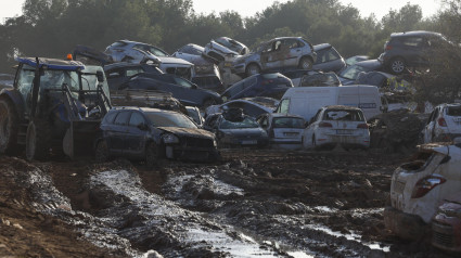
[[[401,74],[408,67],[425,67],[443,46],[449,41],[438,33],[408,31],[392,34],[384,44],[380,60],[393,74]]]

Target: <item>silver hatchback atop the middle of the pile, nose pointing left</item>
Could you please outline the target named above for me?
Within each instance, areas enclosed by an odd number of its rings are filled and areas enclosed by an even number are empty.
[[[289,67],[311,69],[317,60],[312,44],[302,37],[274,38],[261,43],[256,51],[236,57],[232,73],[252,76],[265,70]]]

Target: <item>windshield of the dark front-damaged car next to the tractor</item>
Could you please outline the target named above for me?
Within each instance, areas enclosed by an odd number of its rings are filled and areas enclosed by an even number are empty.
[[[197,128],[185,115],[175,112],[146,112],[145,116],[154,127]]]

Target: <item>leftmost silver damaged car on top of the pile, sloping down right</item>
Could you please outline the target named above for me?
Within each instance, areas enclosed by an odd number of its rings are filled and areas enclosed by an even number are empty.
[[[172,57],[164,50],[148,43],[118,40],[108,46],[104,53],[110,55],[113,62],[142,63],[152,61],[167,74],[174,74],[187,79],[195,75],[192,63]]]

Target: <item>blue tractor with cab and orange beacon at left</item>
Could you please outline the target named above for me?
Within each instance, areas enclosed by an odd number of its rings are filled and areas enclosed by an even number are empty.
[[[0,91],[0,153],[44,160],[52,153],[91,154],[112,107],[101,66],[17,57],[13,88]]]

